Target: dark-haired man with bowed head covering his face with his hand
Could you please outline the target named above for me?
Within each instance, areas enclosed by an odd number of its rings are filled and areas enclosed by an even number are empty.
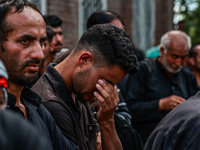
[[[123,149],[114,112],[119,97],[116,84],[127,72],[135,73],[137,59],[127,33],[114,25],[101,24],[83,33],[75,48],[59,64],[50,64],[32,87],[43,99],[63,134],[80,150]],[[97,122],[89,102],[98,101]],[[99,140],[98,140],[99,141]]]

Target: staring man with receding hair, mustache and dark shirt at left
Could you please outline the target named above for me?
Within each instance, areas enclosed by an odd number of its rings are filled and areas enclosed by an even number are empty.
[[[62,135],[41,98],[25,87],[39,72],[46,38],[46,24],[35,4],[0,1],[0,59],[9,76],[8,109],[31,122],[53,149],[76,149]]]

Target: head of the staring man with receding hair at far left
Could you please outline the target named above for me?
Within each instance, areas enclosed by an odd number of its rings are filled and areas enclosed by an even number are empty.
[[[36,6],[27,0],[0,2],[0,59],[9,81],[32,83],[43,59],[46,25]]]

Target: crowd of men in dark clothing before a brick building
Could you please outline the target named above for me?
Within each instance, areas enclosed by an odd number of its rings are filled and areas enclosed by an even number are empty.
[[[198,149],[200,44],[172,30],[160,56],[144,60],[124,27],[117,13],[94,12],[57,55],[58,16],[0,0],[0,147]]]

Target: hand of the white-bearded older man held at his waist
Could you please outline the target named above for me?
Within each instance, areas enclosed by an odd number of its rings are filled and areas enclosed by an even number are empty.
[[[171,95],[169,97],[162,98],[159,101],[159,111],[172,110],[184,101],[185,101],[184,98],[176,95]]]

